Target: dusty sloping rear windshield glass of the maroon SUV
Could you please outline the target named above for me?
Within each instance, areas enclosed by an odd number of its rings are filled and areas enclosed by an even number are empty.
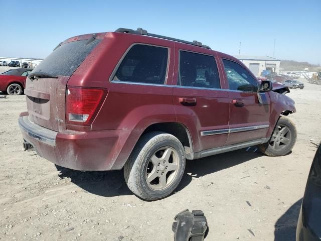
[[[63,44],[38,64],[33,72],[71,76],[100,41],[79,40]]]

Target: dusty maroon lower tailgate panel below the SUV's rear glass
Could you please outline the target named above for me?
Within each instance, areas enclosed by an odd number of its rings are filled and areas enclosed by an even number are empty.
[[[57,79],[27,78],[25,94],[30,121],[61,132],[66,130],[65,100],[69,76]]]

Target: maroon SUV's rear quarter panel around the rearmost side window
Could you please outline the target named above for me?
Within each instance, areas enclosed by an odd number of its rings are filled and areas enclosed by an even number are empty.
[[[163,86],[109,81],[119,60],[135,43],[169,48],[168,73],[173,73],[174,43],[139,35],[107,33],[68,81],[68,86],[108,90],[91,125],[92,130],[144,130],[154,123],[175,121],[172,74],[168,74]]]

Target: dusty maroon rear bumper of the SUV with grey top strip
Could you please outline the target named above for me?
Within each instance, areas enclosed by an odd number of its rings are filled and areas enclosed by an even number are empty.
[[[19,126],[41,157],[82,171],[121,169],[140,135],[132,130],[58,133],[31,122],[28,115],[19,117]]]

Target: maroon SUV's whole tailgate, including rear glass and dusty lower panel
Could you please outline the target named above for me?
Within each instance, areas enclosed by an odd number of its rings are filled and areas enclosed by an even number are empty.
[[[30,73],[25,89],[30,121],[56,132],[66,130],[68,79],[103,36],[83,35],[66,40]],[[36,74],[37,78],[33,76]]]

